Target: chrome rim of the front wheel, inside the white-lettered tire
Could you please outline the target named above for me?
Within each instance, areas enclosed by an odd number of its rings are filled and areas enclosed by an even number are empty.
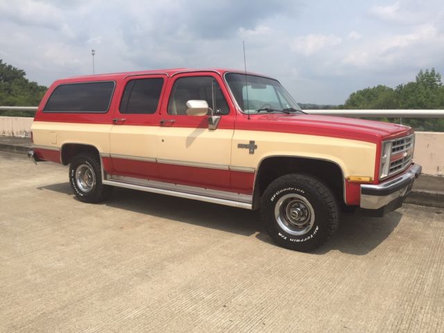
[[[314,209],[303,196],[286,194],[275,205],[275,219],[287,234],[302,236],[313,228]]]

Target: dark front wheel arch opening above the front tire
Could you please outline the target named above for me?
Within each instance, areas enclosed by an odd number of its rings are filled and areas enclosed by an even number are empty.
[[[291,173],[305,173],[318,178],[332,189],[339,203],[345,203],[345,176],[339,163],[316,157],[273,155],[264,157],[257,167],[253,209],[259,208],[261,197],[273,180]]]

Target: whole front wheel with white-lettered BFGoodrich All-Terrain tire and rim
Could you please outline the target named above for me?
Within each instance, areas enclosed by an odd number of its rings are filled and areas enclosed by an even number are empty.
[[[332,191],[323,182],[290,174],[266,188],[261,218],[268,234],[280,246],[309,251],[324,244],[336,231],[339,210]]]

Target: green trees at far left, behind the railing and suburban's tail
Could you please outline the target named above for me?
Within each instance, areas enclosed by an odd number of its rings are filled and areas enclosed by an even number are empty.
[[[46,87],[25,78],[26,73],[0,59],[0,105],[35,106],[40,103]],[[34,117],[34,112],[0,111],[3,116]]]

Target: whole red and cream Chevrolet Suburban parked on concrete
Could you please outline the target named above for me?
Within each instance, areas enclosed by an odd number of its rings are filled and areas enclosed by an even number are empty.
[[[57,80],[31,131],[28,155],[69,164],[78,200],[117,186],[260,210],[295,250],[323,244],[344,208],[397,209],[421,171],[411,128],[305,114],[278,80],[227,69]]]

